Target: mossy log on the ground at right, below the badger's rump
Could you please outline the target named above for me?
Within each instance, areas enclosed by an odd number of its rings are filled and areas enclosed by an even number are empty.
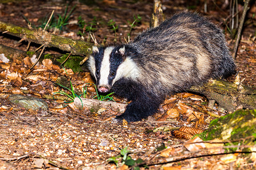
[[[239,76],[239,75],[238,75]],[[241,83],[229,83],[224,80],[210,80],[201,87],[192,87],[192,92],[205,95],[216,100],[218,105],[229,112],[239,108],[256,108],[256,90]]]

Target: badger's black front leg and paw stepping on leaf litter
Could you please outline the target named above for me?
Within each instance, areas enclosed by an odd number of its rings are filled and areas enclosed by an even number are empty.
[[[125,113],[117,116],[116,121],[122,121],[125,119],[127,122],[141,121],[142,118],[146,118],[158,111],[161,101],[159,99],[141,98],[132,101],[126,107]]]

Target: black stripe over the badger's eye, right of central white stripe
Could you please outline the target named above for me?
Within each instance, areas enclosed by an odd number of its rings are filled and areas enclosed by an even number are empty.
[[[123,46],[117,46],[113,49],[112,53],[110,54],[109,62],[110,62],[110,73],[109,73],[109,84],[112,84],[115,75],[117,74],[118,66],[124,61],[124,56],[119,49]],[[122,70],[120,70],[122,71]]]

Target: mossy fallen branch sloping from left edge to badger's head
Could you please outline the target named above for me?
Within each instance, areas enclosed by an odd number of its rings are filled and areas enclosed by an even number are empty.
[[[46,46],[53,46],[61,50],[72,52],[72,54],[84,55],[88,54],[92,43],[84,40],[73,40],[67,37],[61,37],[34,28],[23,28],[13,24],[0,22],[0,32],[8,33],[10,35],[20,37],[24,41],[36,42]]]

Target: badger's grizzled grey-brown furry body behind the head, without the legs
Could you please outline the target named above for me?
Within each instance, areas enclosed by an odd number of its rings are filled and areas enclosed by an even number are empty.
[[[148,89],[177,92],[226,78],[236,65],[220,28],[196,13],[182,12],[125,45]]]

